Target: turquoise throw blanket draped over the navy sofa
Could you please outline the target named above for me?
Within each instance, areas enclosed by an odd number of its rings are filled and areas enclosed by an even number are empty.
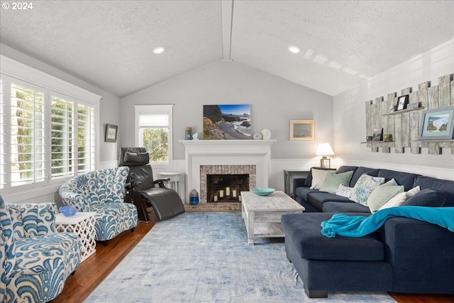
[[[384,221],[393,216],[427,221],[454,232],[454,207],[399,206],[377,211],[370,216],[335,214],[328,221],[321,222],[321,233],[328,238],[336,235],[362,237],[377,231]]]

